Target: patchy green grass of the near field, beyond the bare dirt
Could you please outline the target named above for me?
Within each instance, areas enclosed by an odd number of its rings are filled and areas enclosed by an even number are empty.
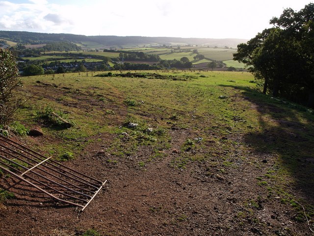
[[[24,91],[36,95],[19,110],[17,119],[27,126],[38,125],[36,112],[49,105],[56,111],[66,111],[75,124],[63,130],[44,127],[46,137],[58,142],[47,142],[40,147],[42,150],[54,156],[64,151],[80,155],[88,143],[97,142],[96,134],[110,133],[115,139],[107,151],[114,160],[149,146],[155,150],[143,160],[149,164],[160,156],[158,150],[169,148],[172,127],[188,129],[193,133],[188,139],[202,137],[203,141],[193,141],[194,153],[182,151],[171,160],[173,168],[188,169],[194,163],[206,163],[228,172],[245,163],[261,169],[262,159],[257,162],[251,159],[258,154],[273,163],[272,168],[265,170],[267,174],[256,176],[268,191],[268,196],[260,196],[262,201],[273,201],[274,196],[279,196],[281,203],[289,207],[294,200],[302,199],[313,216],[313,206],[308,203],[313,201],[310,196],[314,185],[311,162],[314,116],[303,107],[284,104],[255,91],[256,84],[249,83],[253,79],[249,73],[174,73],[197,77],[187,81],[92,77],[95,74],[22,78]],[[221,95],[224,98],[219,98]],[[126,102],[135,106],[127,107]],[[136,132],[121,127],[129,121],[139,123]],[[144,134],[149,126],[165,133]],[[128,132],[131,138],[123,140],[122,132]],[[302,210],[295,203],[294,207],[299,210],[300,220],[304,220]]]

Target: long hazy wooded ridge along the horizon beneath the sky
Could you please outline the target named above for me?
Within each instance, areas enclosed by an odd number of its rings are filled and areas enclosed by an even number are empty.
[[[9,40],[21,44],[47,44],[69,41],[85,48],[131,48],[142,46],[186,46],[198,45],[208,47],[233,47],[247,39],[211,39],[211,38],[177,38],[177,37],[142,37],[142,36],[85,36],[66,33],[36,33],[26,31],[0,30],[0,40]]]

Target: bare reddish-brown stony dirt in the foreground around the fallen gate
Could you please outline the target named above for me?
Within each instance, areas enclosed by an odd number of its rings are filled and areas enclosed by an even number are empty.
[[[87,229],[118,236],[310,235],[307,225],[292,221],[295,212],[276,198],[258,202],[254,209],[243,207],[246,199],[266,194],[255,177],[272,167],[272,156],[252,152],[250,161],[268,160],[263,168],[252,169],[239,162],[238,168],[224,175],[206,175],[204,167],[197,165],[186,170],[171,167],[170,160],[178,155],[175,150],[188,132],[173,130],[176,141],[166,158],[145,169],[137,162],[149,148],[117,165],[108,164],[106,156],[97,153],[106,148],[110,136],[100,136],[104,142],[88,146],[82,156],[67,163],[100,180],[108,179],[105,189],[83,212],[46,198],[25,183],[5,179],[3,187],[16,198],[0,209],[1,235],[66,236]],[[44,137],[36,139],[40,143]]]

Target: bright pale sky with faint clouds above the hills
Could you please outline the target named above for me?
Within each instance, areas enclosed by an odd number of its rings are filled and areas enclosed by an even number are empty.
[[[251,39],[311,0],[0,0],[0,30]]]

